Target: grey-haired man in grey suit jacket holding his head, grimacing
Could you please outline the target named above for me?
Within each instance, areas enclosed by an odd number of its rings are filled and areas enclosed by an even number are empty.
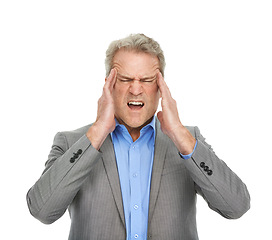
[[[27,194],[31,214],[50,224],[68,208],[77,240],[198,239],[196,193],[222,216],[241,217],[247,188],[197,127],[182,125],[159,44],[130,35],[106,55],[96,121],[56,135]]]

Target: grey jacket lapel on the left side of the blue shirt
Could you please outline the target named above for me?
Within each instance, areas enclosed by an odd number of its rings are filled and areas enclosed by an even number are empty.
[[[111,186],[112,194],[117,209],[119,211],[124,226],[126,226],[119,174],[117,170],[115,153],[110,135],[108,135],[108,137],[104,141],[103,145],[100,148],[100,151],[102,152],[102,161],[105,166],[105,170],[109,179],[109,183]]]

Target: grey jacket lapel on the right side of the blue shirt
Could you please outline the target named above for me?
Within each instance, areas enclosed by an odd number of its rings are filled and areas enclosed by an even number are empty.
[[[150,197],[149,197],[149,213],[148,213],[148,224],[150,223],[157,197],[159,194],[162,170],[165,161],[166,150],[168,146],[168,141],[160,128],[160,123],[156,120],[156,138],[155,138],[155,150],[154,150],[154,161],[151,177],[150,186]]]

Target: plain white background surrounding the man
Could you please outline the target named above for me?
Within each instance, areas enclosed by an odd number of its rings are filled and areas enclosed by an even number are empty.
[[[68,213],[43,225],[25,195],[54,135],[95,120],[109,43],[139,32],[165,52],[183,124],[200,128],[251,194],[239,220],[222,218],[199,197],[200,239],[269,239],[271,13],[271,1],[262,0],[1,1],[3,239],[67,239]]]

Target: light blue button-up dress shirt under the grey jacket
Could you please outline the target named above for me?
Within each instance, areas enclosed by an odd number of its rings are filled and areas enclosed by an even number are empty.
[[[146,240],[147,237],[155,131],[153,117],[141,129],[140,137],[135,142],[126,127],[117,120],[115,130],[111,133],[123,198],[127,240]],[[181,154],[181,157],[188,159],[191,155]]]

